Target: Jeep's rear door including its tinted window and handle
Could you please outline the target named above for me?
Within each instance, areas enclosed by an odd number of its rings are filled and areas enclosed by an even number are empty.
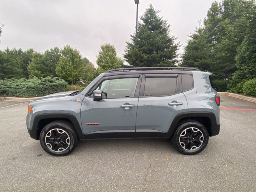
[[[188,113],[180,74],[146,74],[142,78],[136,119],[137,137],[168,137],[177,114]]]

